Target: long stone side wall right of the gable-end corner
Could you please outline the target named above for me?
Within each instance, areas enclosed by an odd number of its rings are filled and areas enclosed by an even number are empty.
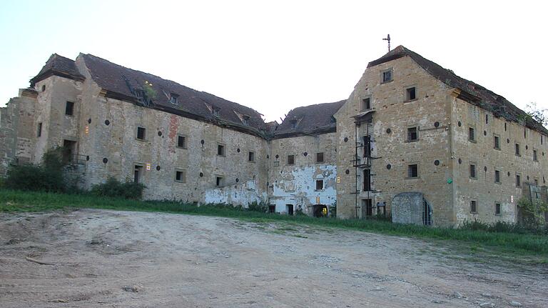
[[[456,222],[516,222],[524,183],[546,184],[547,136],[497,118],[461,99],[452,98],[451,106]],[[470,127],[475,129],[475,141],[468,139]],[[494,136],[499,137],[500,149],[494,149]],[[515,154],[515,144],[519,144],[520,156]],[[533,160],[533,150],[537,150],[537,162]],[[470,164],[476,166],[475,179],[470,178]],[[494,181],[495,170],[500,172],[499,183]],[[516,186],[516,174],[521,176],[522,187]],[[477,201],[476,213],[470,211],[471,200]],[[495,214],[497,203],[501,204],[500,214]]]

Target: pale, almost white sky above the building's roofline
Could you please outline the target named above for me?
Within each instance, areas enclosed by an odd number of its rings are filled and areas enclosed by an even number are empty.
[[[517,106],[548,108],[546,11],[542,1],[3,0],[0,106],[51,54],[83,52],[279,121],[296,106],[346,99],[390,33],[392,46]]]

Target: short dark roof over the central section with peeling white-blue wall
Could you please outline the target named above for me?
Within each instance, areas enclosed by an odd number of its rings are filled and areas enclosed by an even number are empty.
[[[289,111],[282,124],[274,131],[274,138],[334,132],[337,128],[334,114],[345,101],[346,99],[334,103],[303,106]]]

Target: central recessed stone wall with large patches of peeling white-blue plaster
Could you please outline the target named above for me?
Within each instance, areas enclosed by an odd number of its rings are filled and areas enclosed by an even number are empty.
[[[324,162],[316,162],[318,152],[323,152]],[[335,133],[270,141],[269,197],[276,212],[285,213],[292,204],[295,211],[312,215],[315,204],[335,204],[335,154]],[[288,155],[295,155],[295,164],[288,165]],[[323,180],[323,189],[316,189],[317,180]]]

